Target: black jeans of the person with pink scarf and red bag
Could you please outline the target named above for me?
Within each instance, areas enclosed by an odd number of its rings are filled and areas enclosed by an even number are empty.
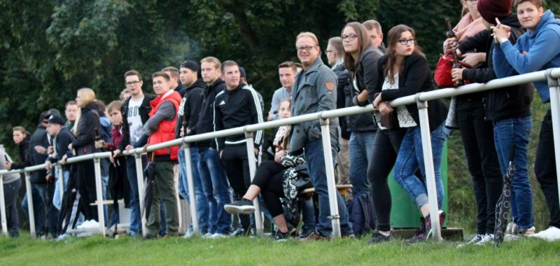
[[[458,100],[457,122],[477,205],[477,234],[493,234],[496,202],[503,188],[493,125],[484,120],[482,99]]]

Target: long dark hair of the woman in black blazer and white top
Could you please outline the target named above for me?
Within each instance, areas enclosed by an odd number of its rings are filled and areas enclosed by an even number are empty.
[[[408,27],[407,25],[404,24],[400,24],[400,25],[396,25],[395,27],[392,27],[389,32],[388,32],[388,36],[387,36],[387,64],[385,65],[385,68],[383,69],[383,75],[389,79],[389,83],[393,84],[395,83],[395,73],[393,73],[393,66],[396,61],[396,53],[395,53],[395,45],[398,44],[398,40],[400,39],[400,35],[402,34],[402,32],[405,31],[410,31],[410,34],[412,34],[412,38],[416,38],[416,34],[414,33],[414,29],[412,29],[411,27]],[[424,55],[424,53],[422,52],[422,49],[420,48],[420,46],[418,46],[418,44],[416,44],[416,40],[414,40],[414,52],[416,52],[417,54],[426,57],[426,55]],[[400,74],[402,73],[402,66],[400,66],[400,69],[398,71],[398,74],[400,76]]]

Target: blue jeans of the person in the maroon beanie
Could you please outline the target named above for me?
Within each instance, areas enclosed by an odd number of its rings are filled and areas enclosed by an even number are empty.
[[[519,229],[531,228],[533,221],[533,195],[528,178],[527,144],[531,134],[531,116],[494,121],[494,142],[502,174],[510,164],[510,149],[515,147],[515,174],[512,181],[512,217]]]

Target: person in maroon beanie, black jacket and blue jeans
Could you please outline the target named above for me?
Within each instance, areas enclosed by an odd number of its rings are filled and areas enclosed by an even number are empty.
[[[512,34],[509,41],[515,43],[523,34],[523,29],[517,21],[516,15],[511,13],[513,1],[480,0],[477,9],[482,17],[486,30],[480,31],[475,36],[463,41],[458,47],[458,55],[468,50],[486,52],[486,68],[482,69],[453,69],[451,76],[454,80],[467,79],[475,83],[486,83],[496,78],[494,73],[496,64],[493,62],[493,53],[496,52],[496,43],[491,37],[491,25],[496,19],[502,20],[510,28]],[[484,94],[486,120],[493,123],[493,140],[496,146],[501,174],[505,174],[509,163],[511,146],[515,146],[514,163],[515,175],[512,181],[512,217],[513,223],[508,225],[506,239],[517,238],[519,235],[531,235],[535,232],[533,221],[533,197],[531,184],[528,181],[528,151],[527,144],[531,133],[531,102],[534,90],[530,84],[503,87],[498,90],[489,90]],[[470,94],[469,94],[470,95]],[[497,177],[497,178],[496,178]],[[486,186],[486,232],[477,244],[493,241],[493,228],[496,221],[494,216],[496,202],[502,189],[501,176],[492,174],[485,181]],[[519,230],[514,230],[516,226]]]

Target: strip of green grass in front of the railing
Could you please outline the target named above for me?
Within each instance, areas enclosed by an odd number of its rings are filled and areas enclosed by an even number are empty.
[[[267,238],[142,241],[90,237],[51,242],[0,237],[0,265],[558,265],[560,241],[521,239],[456,248],[456,242],[363,246],[363,239],[300,243]]]

